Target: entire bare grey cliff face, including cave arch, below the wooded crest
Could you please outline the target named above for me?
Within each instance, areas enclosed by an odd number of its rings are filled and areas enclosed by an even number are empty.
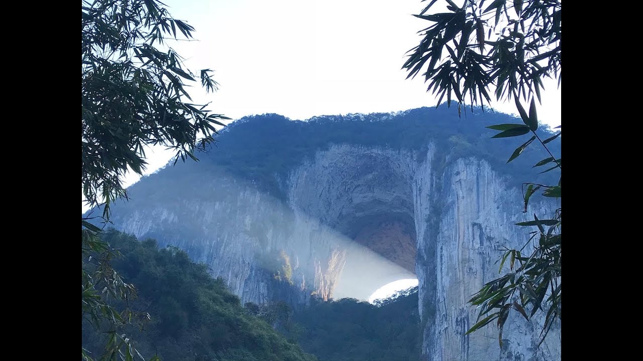
[[[559,326],[540,348],[539,330],[516,315],[502,349],[493,324],[464,335],[477,316],[467,300],[498,277],[496,250],[529,238],[514,225],[527,217],[520,189],[487,161],[437,149],[332,145],[280,178],[279,198],[253,179],[219,170],[195,176],[179,165],[132,187],[132,201],[115,206],[112,219],[122,231],[185,249],[244,303],[368,299],[386,283],[417,277],[427,360],[559,360]],[[554,207],[534,200],[527,215]]]

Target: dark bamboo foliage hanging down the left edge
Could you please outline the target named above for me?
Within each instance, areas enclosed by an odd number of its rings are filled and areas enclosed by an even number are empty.
[[[145,146],[165,145],[176,150],[176,159],[196,160],[195,151],[213,143],[214,125],[229,119],[186,101],[184,82],[196,76],[165,44],[177,30],[189,39],[194,28],[172,18],[158,0],[82,1],[82,195],[87,205],[102,206],[105,223],[113,202],[127,199],[125,173],[145,170]],[[199,75],[207,91],[216,89],[209,69]],[[100,360],[141,357],[123,333],[136,319],[134,286],[111,267],[119,252],[87,220],[82,218],[84,326],[109,335]],[[112,300],[122,301],[122,310]],[[86,349],[82,358],[93,359]]]

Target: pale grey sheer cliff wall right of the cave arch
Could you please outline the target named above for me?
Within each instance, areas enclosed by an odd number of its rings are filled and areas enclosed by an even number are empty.
[[[525,220],[516,201],[521,199],[520,189],[508,187],[485,161],[458,159],[445,170],[440,186],[442,209],[430,225],[433,234],[420,247],[430,265],[419,267],[418,272],[421,285],[431,285],[420,288],[421,303],[426,305],[422,320],[428,359],[560,359],[559,329],[550,332],[537,349],[539,331],[520,316],[508,319],[502,350],[493,324],[464,335],[476,322],[476,311],[467,300],[498,277],[496,262],[501,252],[496,250],[520,249],[529,234],[514,225]],[[534,202],[528,214],[550,214],[552,206]]]

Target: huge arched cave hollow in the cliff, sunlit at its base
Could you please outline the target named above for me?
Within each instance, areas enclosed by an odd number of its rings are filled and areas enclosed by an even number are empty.
[[[343,236],[341,274],[319,277],[332,285],[332,299],[368,301],[388,283],[417,279],[416,169],[408,159],[415,155],[332,146],[302,173],[300,182],[315,186],[293,188],[291,198],[300,209]]]

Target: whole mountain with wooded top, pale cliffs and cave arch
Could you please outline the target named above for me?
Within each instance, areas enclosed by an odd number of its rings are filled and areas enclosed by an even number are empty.
[[[490,139],[496,132],[484,127],[500,123],[521,121],[478,108],[458,117],[444,106],[242,118],[199,163],[134,184],[112,220],[206,263],[242,303],[367,299],[417,277],[424,358],[557,360],[559,327],[536,348],[538,323],[519,315],[505,324],[502,349],[494,324],[464,335],[477,315],[466,301],[498,276],[498,249],[529,239],[514,223],[557,207],[534,198],[522,213],[521,183],[555,175],[532,168],[548,156],[538,146],[507,164],[525,139]],[[560,154],[559,139],[550,145]]]

